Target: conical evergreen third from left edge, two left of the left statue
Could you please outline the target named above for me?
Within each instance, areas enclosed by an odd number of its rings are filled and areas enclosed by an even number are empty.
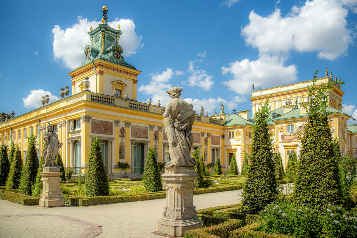
[[[36,152],[36,138],[31,135],[27,137],[28,146],[24,167],[21,171],[19,192],[31,196],[31,188],[34,186],[37,170],[39,169],[39,159]]]

